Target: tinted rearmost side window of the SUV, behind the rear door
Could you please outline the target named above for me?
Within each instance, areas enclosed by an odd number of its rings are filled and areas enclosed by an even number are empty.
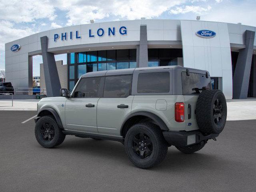
[[[140,73],[138,76],[138,93],[168,93],[170,91],[170,73]]]

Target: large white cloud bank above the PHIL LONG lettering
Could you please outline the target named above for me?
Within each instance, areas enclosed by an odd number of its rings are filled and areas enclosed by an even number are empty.
[[[67,25],[85,24],[90,19],[100,20],[110,16],[119,19],[154,18],[186,0],[63,0],[58,8],[67,11]]]

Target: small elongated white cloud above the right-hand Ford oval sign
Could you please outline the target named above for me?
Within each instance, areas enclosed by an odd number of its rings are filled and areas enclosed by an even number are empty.
[[[182,6],[182,7],[177,6],[174,9],[171,9],[170,13],[171,14],[185,14],[188,12],[192,12],[195,14],[203,15],[203,14],[208,13],[209,10],[211,10],[211,8],[212,8],[211,6],[207,6],[207,8],[203,8],[200,6]]]

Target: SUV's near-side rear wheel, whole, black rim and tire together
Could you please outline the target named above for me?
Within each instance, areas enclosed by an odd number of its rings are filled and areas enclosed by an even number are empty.
[[[130,161],[139,168],[159,164],[168,150],[160,128],[152,123],[133,125],[126,134],[124,147]]]

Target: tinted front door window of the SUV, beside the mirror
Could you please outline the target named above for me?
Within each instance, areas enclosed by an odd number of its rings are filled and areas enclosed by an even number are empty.
[[[88,98],[99,97],[101,77],[83,78],[80,80],[73,97]]]

